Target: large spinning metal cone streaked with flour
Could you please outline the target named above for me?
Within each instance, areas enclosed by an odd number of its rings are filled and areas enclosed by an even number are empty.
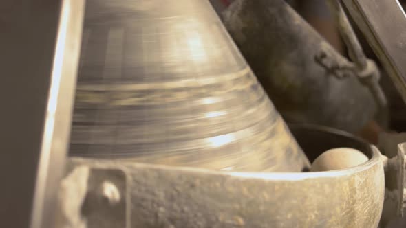
[[[87,1],[70,155],[213,170],[309,163],[208,1]]]

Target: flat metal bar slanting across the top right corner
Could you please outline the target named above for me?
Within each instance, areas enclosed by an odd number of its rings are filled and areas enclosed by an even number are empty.
[[[406,102],[406,16],[399,2],[343,0]]]

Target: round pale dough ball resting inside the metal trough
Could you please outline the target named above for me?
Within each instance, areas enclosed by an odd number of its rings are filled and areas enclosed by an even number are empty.
[[[312,163],[311,172],[340,170],[358,166],[368,161],[368,157],[353,148],[333,148],[323,152]]]

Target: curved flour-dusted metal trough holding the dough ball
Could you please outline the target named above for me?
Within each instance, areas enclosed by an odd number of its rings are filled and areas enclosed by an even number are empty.
[[[370,160],[345,170],[301,173],[215,172],[81,158],[71,158],[70,165],[89,167],[89,183],[125,183],[125,189],[119,187],[120,200],[128,207],[120,227],[377,227],[384,193],[378,150],[325,128],[292,126],[292,132],[309,157],[343,145],[365,152]],[[105,213],[112,207],[108,201],[92,207],[88,228],[114,220],[114,213]]]

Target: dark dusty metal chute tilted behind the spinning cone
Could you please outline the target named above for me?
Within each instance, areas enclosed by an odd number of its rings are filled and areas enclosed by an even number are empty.
[[[372,119],[370,91],[355,77],[334,76],[334,69],[345,69],[350,62],[284,1],[234,1],[223,21],[288,122],[356,132]],[[315,60],[323,55],[325,67]]]

